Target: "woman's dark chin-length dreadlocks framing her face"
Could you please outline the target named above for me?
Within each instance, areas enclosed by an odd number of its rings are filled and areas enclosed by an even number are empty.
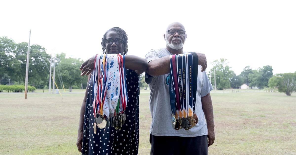
[[[122,28],[120,27],[112,27],[111,29],[109,29],[102,38],[102,52],[105,54],[106,53],[106,42],[105,39],[107,37],[107,33],[110,31],[115,31],[117,32],[117,35],[123,39],[123,54],[126,55],[128,53],[128,35],[126,35],[126,32],[124,30],[122,30]]]

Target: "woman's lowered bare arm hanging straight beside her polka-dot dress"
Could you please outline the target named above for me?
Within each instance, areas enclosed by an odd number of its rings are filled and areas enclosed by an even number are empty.
[[[88,75],[87,84],[89,83],[89,79],[91,78],[91,74]],[[86,84],[86,86],[88,86]],[[79,125],[78,125],[78,136],[77,136],[77,142],[76,145],[78,147],[78,151],[82,152],[82,138],[83,138],[83,122],[84,122],[84,111],[85,111],[85,103],[86,103],[86,97],[87,97],[87,87],[85,90],[84,99],[82,101],[82,105],[80,108],[80,118],[79,118]]]

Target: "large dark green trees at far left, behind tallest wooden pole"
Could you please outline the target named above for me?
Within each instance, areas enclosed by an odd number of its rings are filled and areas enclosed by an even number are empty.
[[[28,43],[15,43],[8,37],[0,37],[0,80],[2,76],[11,83],[24,83],[27,61]],[[49,74],[49,58],[45,48],[34,44],[30,46],[28,84],[43,88]]]

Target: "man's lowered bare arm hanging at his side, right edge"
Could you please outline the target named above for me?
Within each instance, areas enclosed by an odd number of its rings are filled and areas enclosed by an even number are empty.
[[[202,110],[205,113],[205,119],[207,121],[207,137],[209,138],[208,146],[211,146],[215,141],[215,132],[214,132],[214,113],[213,113],[213,104],[210,93],[202,97]]]

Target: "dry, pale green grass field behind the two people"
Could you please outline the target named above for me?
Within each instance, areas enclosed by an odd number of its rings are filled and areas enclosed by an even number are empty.
[[[139,154],[150,152],[149,91],[140,94]],[[231,92],[231,91],[230,91]],[[83,94],[1,94],[0,154],[79,154]],[[209,154],[296,154],[296,93],[212,93]]]

